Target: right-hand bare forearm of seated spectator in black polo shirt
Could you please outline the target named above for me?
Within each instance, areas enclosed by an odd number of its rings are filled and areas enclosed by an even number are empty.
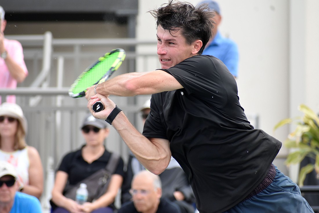
[[[81,209],[84,212],[90,213],[91,211],[95,209],[109,206],[111,203],[114,202],[115,197],[119,189],[121,188],[122,182],[123,182],[123,177],[121,175],[118,175],[118,174],[112,175],[110,183],[108,185],[107,192],[92,203],[89,203],[89,202],[84,203],[83,206],[81,206]]]

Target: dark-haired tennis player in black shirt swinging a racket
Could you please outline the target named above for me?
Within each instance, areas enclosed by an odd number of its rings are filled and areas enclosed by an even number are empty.
[[[160,174],[171,155],[189,178],[201,213],[313,212],[299,187],[272,161],[281,142],[254,129],[233,75],[201,55],[211,37],[207,5],[170,1],[150,11],[157,22],[161,68],[118,75],[87,89],[88,108],[121,135],[145,168]],[[108,95],[152,94],[143,134]],[[101,101],[104,110],[94,113]]]

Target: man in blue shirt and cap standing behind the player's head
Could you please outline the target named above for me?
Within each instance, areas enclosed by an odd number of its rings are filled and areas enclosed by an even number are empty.
[[[238,47],[237,44],[229,38],[223,37],[218,31],[221,22],[219,5],[215,1],[205,0],[199,4],[208,4],[210,10],[215,12],[214,28],[212,29],[212,37],[208,41],[203,55],[212,55],[220,59],[228,68],[234,77],[238,76]]]

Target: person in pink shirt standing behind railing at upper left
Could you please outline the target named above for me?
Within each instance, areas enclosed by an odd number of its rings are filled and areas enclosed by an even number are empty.
[[[6,24],[4,9],[0,6],[0,88],[17,88],[17,83],[25,80],[28,70],[21,43],[4,38]],[[16,97],[7,96],[6,101],[15,103]]]

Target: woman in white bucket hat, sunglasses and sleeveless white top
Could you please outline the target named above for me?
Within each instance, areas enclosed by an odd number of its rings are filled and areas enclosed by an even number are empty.
[[[43,191],[43,168],[38,151],[27,146],[26,118],[14,103],[0,105],[0,160],[16,167],[19,190],[39,198]]]

